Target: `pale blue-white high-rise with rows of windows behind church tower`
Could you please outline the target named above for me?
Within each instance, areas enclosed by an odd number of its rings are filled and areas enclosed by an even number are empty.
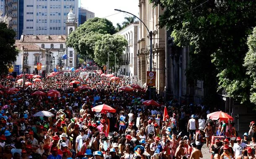
[[[71,8],[78,15],[78,0],[24,0],[24,35],[63,35]]]

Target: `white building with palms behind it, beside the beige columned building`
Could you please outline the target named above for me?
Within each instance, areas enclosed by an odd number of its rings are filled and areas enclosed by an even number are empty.
[[[128,45],[122,55],[123,63],[118,70],[118,75],[134,78],[135,81],[131,80],[133,83],[136,83],[137,78],[138,26],[138,23],[131,23],[117,33],[123,35],[128,41]]]

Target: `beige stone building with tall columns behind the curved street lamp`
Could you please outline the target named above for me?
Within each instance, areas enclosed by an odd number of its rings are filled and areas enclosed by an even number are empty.
[[[159,28],[159,15],[164,13],[164,8],[159,5],[153,8],[149,0],[139,0],[139,18],[146,24],[149,31],[153,32],[152,40],[152,71],[156,71],[156,89],[161,95],[165,89],[165,28]],[[143,23],[139,22],[138,38],[138,81],[141,85],[146,82],[146,72],[149,71],[149,32]]]

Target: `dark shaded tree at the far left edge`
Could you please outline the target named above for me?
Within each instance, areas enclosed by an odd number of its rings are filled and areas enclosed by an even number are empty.
[[[0,75],[8,73],[8,67],[12,66],[12,62],[16,61],[18,50],[16,49],[15,31],[7,28],[5,23],[0,23]]]

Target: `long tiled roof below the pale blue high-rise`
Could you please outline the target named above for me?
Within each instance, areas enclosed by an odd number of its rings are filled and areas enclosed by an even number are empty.
[[[66,35],[22,35],[21,42],[38,43],[38,42],[66,42]]]

